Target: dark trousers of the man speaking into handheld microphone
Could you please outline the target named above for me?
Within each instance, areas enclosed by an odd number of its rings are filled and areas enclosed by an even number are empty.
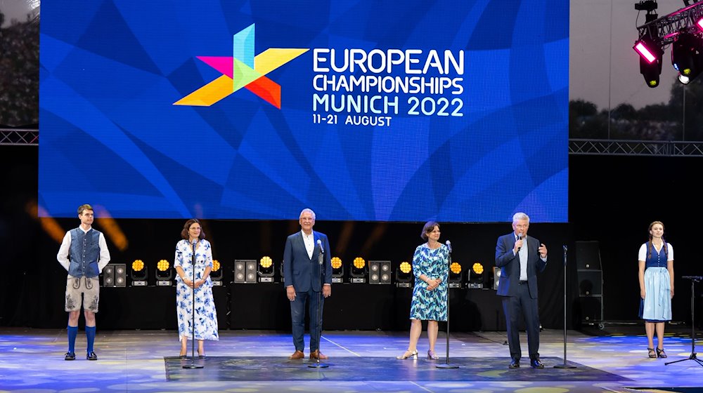
[[[530,298],[529,288],[526,284],[518,286],[517,296],[503,297],[503,312],[505,324],[508,327],[508,346],[510,357],[520,360],[520,317],[524,317],[527,328],[527,349],[530,359],[539,359],[539,314],[537,299]]]

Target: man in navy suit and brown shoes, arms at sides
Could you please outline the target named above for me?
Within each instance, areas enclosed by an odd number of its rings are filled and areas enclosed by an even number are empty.
[[[293,352],[288,359],[303,359],[305,354],[305,305],[310,315],[310,359],[327,359],[320,352],[322,309],[325,298],[332,295],[332,261],[327,235],[315,232],[315,212],[309,208],[300,212],[301,231],[285,241],[283,251],[283,285],[290,300],[293,330]],[[323,283],[321,281],[324,281]],[[318,312],[319,321],[318,321]]]

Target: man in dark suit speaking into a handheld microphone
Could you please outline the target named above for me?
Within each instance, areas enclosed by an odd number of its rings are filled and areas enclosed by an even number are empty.
[[[498,295],[503,296],[503,312],[508,327],[510,368],[520,367],[520,317],[527,327],[527,347],[530,366],[544,368],[539,361],[539,312],[537,304],[537,273],[547,266],[547,248],[537,239],[527,236],[529,217],[525,213],[512,216],[512,233],[498,237],[496,267],[501,268]]]

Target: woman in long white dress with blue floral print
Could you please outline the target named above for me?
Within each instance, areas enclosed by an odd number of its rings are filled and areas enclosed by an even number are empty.
[[[203,340],[219,340],[217,311],[212,298],[212,249],[205,232],[195,218],[186,221],[181,231],[183,240],[176,244],[174,267],[176,277],[176,314],[181,340],[181,358],[186,357],[188,338],[193,337],[193,294],[195,294],[195,340],[198,357],[205,358]],[[193,244],[195,243],[195,246]],[[193,252],[195,251],[195,281],[193,281]]]

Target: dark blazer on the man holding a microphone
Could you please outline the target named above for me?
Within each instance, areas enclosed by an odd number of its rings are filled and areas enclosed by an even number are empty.
[[[543,272],[547,262],[539,258],[538,239],[527,236],[527,286],[530,298],[537,298],[537,273]],[[496,244],[496,267],[501,268],[501,281],[498,281],[499,296],[517,296],[520,281],[520,256],[512,254],[515,247],[515,233],[510,232],[498,238]]]

